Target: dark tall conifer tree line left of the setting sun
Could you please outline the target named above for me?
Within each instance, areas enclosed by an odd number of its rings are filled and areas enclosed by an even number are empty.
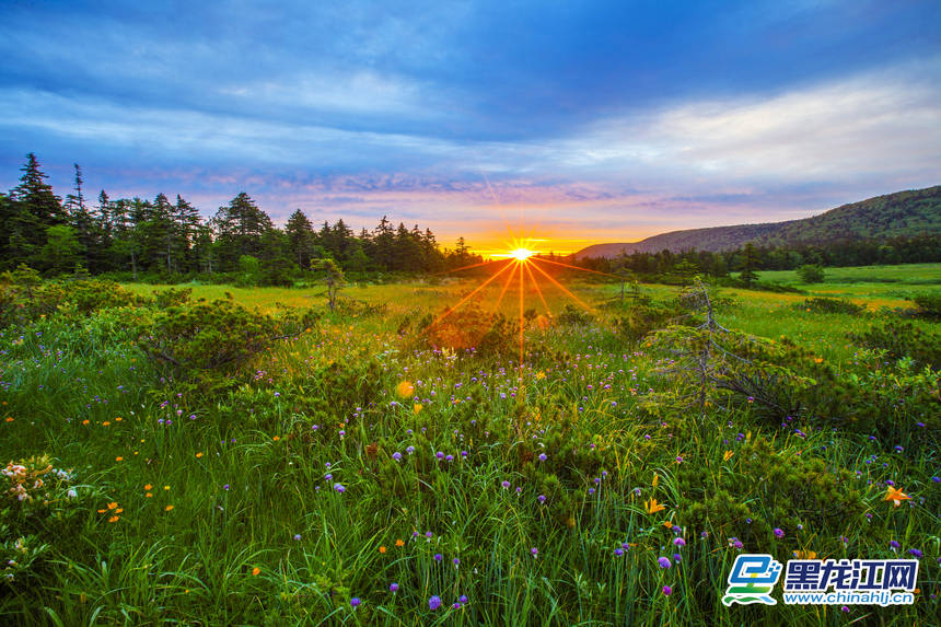
[[[47,276],[73,272],[156,276],[251,275],[258,282],[288,283],[330,259],[347,272],[434,272],[483,260],[463,237],[441,248],[430,229],[383,217],[371,231],[355,233],[342,219],[315,228],[300,209],[283,229],[244,191],[209,219],[177,195],[153,200],[89,201],[74,164],[73,189],[62,200],[30,153],[20,184],[0,193],[0,270],[26,264]]]

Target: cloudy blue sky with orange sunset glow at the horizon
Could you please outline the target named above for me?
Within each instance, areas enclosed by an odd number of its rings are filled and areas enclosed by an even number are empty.
[[[200,5],[206,4],[206,5]],[[0,2],[0,189],[543,252],[941,184],[941,2]]]

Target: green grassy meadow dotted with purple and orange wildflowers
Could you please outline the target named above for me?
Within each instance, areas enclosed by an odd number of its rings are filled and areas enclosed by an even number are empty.
[[[66,287],[11,317],[0,620],[937,624],[938,370],[853,337],[937,339],[906,297],[941,265],[707,288],[728,332],[698,292],[528,276],[349,285],[334,312],[323,288]],[[230,304],[194,339],[199,299]],[[741,553],[918,559],[918,591],[727,607]]]

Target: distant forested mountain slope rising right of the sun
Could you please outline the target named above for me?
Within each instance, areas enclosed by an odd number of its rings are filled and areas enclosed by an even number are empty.
[[[573,257],[616,257],[623,252],[658,253],[664,248],[674,253],[690,248],[720,252],[748,242],[756,246],[825,245],[928,234],[941,234],[941,185],[876,196],[802,220],[671,231],[640,242],[595,244]]]

